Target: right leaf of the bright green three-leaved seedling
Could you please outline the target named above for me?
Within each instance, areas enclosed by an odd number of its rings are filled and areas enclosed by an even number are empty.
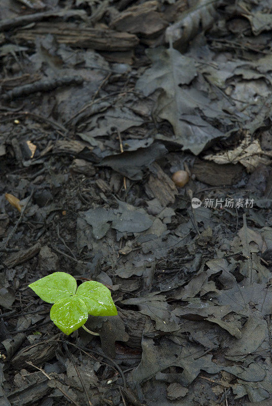
[[[76,292],[87,306],[88,314],[92,316],[115,316],[117,309],[111,292],[99,282],[88,281],[82,283]]]

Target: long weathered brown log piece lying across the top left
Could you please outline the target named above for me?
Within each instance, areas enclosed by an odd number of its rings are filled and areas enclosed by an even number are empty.
[[[37,37],[53,35],[60,44],[101,51],[128,51],[138,43],[138,38],[127,32],[111,29],[86,28],[73,23],[38,23],[32,29],[20,29],[12,36],[12,41],[35,43]]]

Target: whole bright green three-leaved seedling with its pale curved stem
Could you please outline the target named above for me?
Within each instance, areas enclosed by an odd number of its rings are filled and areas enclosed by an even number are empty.
[[[99,282],[87,281],[77,286],[73,276],[65,272],[55,272],[28,286],[44,301],[54,303],[50,319],[67,335],[79,327],[99,335],[84,326],[88,315],[117,315],[110,290]]]

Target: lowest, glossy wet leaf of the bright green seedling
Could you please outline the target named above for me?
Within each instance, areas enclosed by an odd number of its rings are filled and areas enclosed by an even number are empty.
[[[64,297],[53,304],[50,318],[62,332],[69,335],[86,323],[88,311],[80,297]]]

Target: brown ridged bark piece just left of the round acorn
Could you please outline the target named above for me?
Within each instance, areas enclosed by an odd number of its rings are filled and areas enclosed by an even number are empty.
[[[175,183],[166,175],[157,163],[150,166],[150,177],[146,185],[146,192],[152,197],[156,197],[162,206],[174,203],[178,189]]]

